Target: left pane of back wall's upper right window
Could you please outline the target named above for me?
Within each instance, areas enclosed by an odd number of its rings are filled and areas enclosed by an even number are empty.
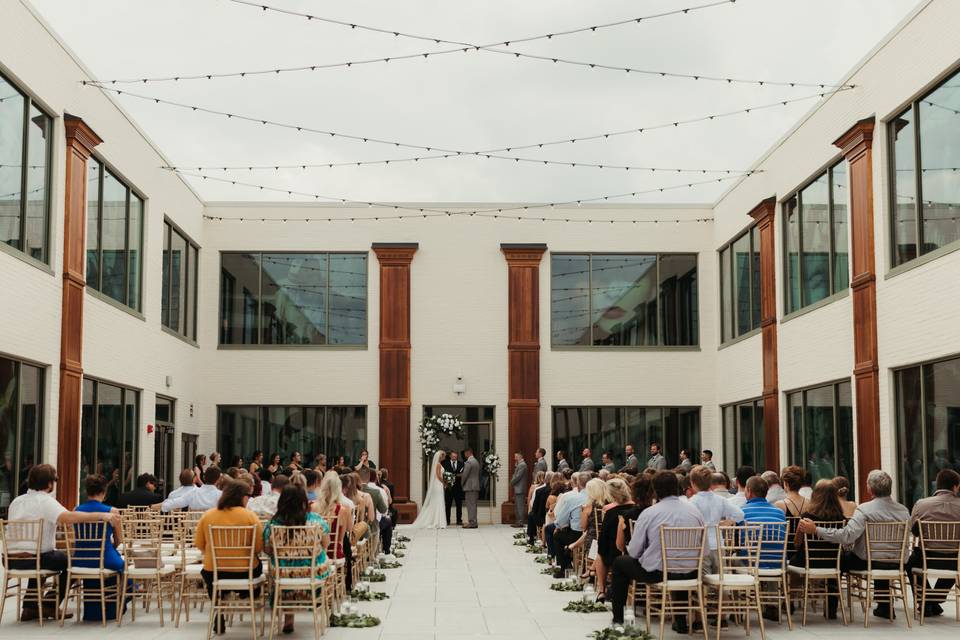
[[[550,258],[551,342],[589,345],[590,258],[552,255]]]

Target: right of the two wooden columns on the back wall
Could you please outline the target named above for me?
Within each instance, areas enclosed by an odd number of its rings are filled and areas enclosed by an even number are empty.
[[[532,467],[540,446],[540,260],[545,244],[501,244],[507,259],[507,468],[513,474],[513,454],[522,452]],[[513,496],[507,488],[501,505],[503,522],[513,522]]]

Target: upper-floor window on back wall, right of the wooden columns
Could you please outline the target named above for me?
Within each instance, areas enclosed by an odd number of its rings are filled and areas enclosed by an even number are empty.
[[[553,346],[699,343],[696,254],[551,256]]]

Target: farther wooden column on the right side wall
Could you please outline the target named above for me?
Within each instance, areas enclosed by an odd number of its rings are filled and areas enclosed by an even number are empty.
[[[767,469],[780,469],[780,389],[777,381],[777,199],[767,198],[750,212],[760,234],[760,335],[763,340],[763,457]]]

